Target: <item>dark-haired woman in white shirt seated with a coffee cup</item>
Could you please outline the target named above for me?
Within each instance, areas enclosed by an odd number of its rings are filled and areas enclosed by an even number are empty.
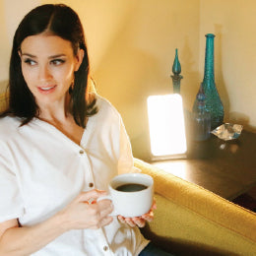
[[[109,200],[96,203],[133,160],[120,115],[88,92],[89,72],[72,9],[43,5],[24,18],[0,119],[0,255],[161,255],[138,228],[152,210],[114,218]]]

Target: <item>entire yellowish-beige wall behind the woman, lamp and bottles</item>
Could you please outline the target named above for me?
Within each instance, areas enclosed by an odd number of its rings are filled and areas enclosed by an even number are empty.
[[[14,2],[16,8],[12,10]],[[35,2],[0,0],[0,29],[4,34],[0,85],[7,80],[13,28]],[[149,156],[146,99],[172,93],[169,75],[175,48],[184,76],[181,95],[185,108],[191,109],[203,79],[207,32],[217,35],[216,82],[224,101],[225,120],[236,118],[251,129],[256,127],[254,0],[61,2],[74,8],[82,19],[97,91],[121,113],[135,157],[147,160]]]

